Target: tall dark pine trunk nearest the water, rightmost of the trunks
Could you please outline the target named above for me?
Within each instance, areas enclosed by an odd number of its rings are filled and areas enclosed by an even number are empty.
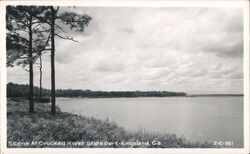
[[[51,113],[56,113],[55,99],[55,10],[51,6]]]

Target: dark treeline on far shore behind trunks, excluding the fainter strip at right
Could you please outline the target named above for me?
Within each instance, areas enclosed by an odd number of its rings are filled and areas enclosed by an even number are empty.
[[[39,97],[39,88],[34,87],[34,96]],[[50,90],[42,89],[44,97],[50,97]],[[28,97],[29,85],[24,84],[7,84],[7,97]],[[73,90],[73,89],[57,89],[56,97],[171,97],[186,96],[184,92],[169,91],[91,91],[91,90]]]

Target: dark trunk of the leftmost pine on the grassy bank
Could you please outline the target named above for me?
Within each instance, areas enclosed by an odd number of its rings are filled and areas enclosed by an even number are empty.
[[[30,15],[29,20],[29,77],[30,77],[30,91],[29,91],[29,112],[34,113],[34,102],[33,102],[33,55],[32,55],[32,16]]]

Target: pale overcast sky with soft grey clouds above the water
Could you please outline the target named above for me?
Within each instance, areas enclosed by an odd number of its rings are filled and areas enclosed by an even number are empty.
[[[56,39],[56,88],[243,93],[239,8],[64,8],[91,16],[78,43]],[[50,88],[50,56],[43,56]],[[8,82],[28,84],[21,66]],[[39,85],[35,66],[35,85]]]

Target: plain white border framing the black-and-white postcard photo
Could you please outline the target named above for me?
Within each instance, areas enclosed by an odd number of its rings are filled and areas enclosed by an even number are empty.
[[[7,148],[7,130],[6,130],[6,49],[5,49],[5,6],[6,5],[56,5],[56,6],[100,6],[100,7],[242,7],[244,8],[244,148],[223,148],[223,149],[90,149],[90,148]],[[162,1],[162,0],[127,0],[127,1],[0,1],[0,64],[1,64],[1,153],[230,153],[246,154],[249,153],[249,2],[247,0],[238,1]],[[4,51],[4,52],[2,52]]]

